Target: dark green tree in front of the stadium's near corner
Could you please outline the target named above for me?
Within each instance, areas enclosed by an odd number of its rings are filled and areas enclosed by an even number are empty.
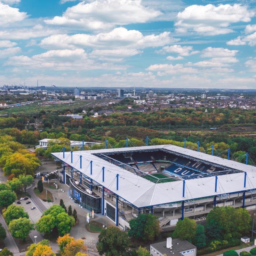
[[[128,236],[139,240],[153,240],[161,231],[158,218],[152,214],[139,214],[129,224]]]

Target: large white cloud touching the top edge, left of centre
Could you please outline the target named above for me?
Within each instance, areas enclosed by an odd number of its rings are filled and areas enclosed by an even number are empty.
[[[145,23],[160,14],[159,11],[143,6],[141,0],[96,0],[91,3],[83,1],[69,7],[62,16],[45,20],[45,23],[102,31],[116,25]]]

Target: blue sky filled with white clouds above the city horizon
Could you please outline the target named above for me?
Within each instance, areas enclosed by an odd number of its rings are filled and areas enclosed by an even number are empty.
[[[256,89],[254,0],[0,0],[0,85]]]

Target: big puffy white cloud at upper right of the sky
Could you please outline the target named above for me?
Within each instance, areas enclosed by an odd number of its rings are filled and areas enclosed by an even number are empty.
[[[254,16],[247,6],[241,4],[190,5],[177,15],[177,32],[196,32],[201,35],[220,35],[233,32],[227,28],[231,23],[249,22]]]

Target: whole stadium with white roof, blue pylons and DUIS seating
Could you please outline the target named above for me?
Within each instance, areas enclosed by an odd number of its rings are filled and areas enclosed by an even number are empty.
[[[204,220],[214,206],[256,210],[252,165],[174,145],[63,148],[52,155],[62,163],[71,198],[124,230],[129,220],[146,212],[163,226],[184,217]]]

